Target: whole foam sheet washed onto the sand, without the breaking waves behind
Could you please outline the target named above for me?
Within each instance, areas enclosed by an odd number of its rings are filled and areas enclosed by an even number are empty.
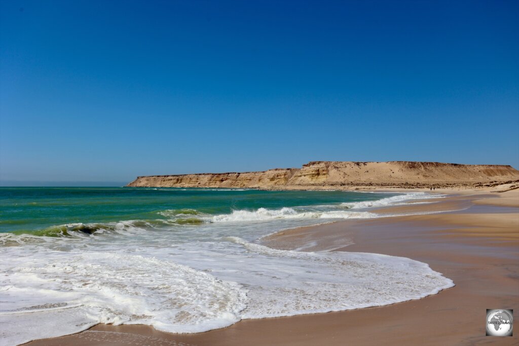
[[[57,252],[35,246],[22,257],[20,248],[4,252],[3,343],[97,323],[197,333],[240,319],[382,306],[453,286],[408,258],[275,250],[239,237],[138,251],[130,244],[97,247]],[[53,328],[60,321],[69,323]]]

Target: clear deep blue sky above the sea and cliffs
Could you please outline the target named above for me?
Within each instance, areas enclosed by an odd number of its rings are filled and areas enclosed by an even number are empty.
[[[518,1],[2,1],[0,180],[519,168]]]

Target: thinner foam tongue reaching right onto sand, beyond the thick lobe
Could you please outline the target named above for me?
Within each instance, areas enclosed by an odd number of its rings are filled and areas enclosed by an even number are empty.
[[[383,306],[436,294],[454,285],[427,264],[408,258],[303,253],[275,250],[237,237],[229,240],[262,258],[259,267],[250,264],[260,268],[261,274],[245,279],[249,302],[242,311],[243,319]]]

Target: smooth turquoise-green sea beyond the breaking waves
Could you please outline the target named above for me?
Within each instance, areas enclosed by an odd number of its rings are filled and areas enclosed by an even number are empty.
[[[397,195],[397,194],[394,194]],[[192,209],[221,215],[259,208],[277,210],[372,201],[387,193],[260,191],[121,187],[0,188],[0,232],[31,232],[71,223],[167,219],[164,211]]]

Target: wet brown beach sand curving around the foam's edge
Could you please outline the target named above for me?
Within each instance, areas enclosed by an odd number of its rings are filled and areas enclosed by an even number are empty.
[[[83,333],[27,345],[519,344],[519,327],[512,337],[485,336],[486,309],[514,309],[514,319],[519,321],[519,190],[464,193],[433,204],[409,203],[378,212],[394,215],[427,210],[435,214],[298,228],[279,232],[263,239],[263,243],[277,248],[370,252],[423,261],[456,284],[437,295],[385,307],[243,320],[200,334],[100,324]],[[453,210],[457,211],[439,213]]]

